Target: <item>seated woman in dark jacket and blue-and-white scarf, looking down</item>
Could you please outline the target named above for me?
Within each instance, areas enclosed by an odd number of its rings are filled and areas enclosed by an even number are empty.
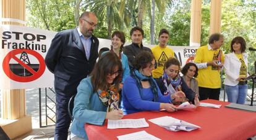
[[[176,104],[181,104],[182,102],[189,101],[195,103],[196,106],[199,105],[198,95],[195,95],[195,92],[187,87],[186,82],[179,76],[179,71],[181,64],[176,58],[169,58],[164,63],[164,74],[159,79],[156,79],[156,83],[161,90],[163,95],[171,95]],[[183,98],[182,101],[176,101],[175,93],[178,91],[183,91],[186,95],[186,98]]]

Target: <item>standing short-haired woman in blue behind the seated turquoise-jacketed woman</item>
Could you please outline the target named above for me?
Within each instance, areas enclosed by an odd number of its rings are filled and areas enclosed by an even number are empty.
[[[122,69],[124,70],[124,73],[122,74],[122,84],[124,83],[124,80],[126,80],[126,77],[130,75],[130,68],[128,64],[127,56],[122,53],[122,49],[124,47],[124,43],[126,42],[126,36],[124,36],[124,32],[122,31],[114,31],[111,35],[111,50],[110,52],[115,53],[120,61],[122,62]],[[103,55],[106,52],[103,52]],[[122,84],[121,87],[122,88]]]

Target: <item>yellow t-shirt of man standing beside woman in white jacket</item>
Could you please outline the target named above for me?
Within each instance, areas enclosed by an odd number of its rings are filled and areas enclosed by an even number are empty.
[[[205,63],[208,61],[221,60],[221,63],[224,62],[224,54],[220,49],[217,50],[209,50],[208,45],[204,45],[199,47],[197,52],[195,53],[195,63]],[[220,54],[220,55],[218,55]],[[221,79],[220,79],[220,70],[213,66],[208,66],[206,69],[198,70],[198,87],[205,88],[220,88],[221,87]]]

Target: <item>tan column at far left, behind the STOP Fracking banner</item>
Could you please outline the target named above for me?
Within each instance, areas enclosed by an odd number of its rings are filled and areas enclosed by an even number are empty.
[[[22,25],[19,20],[25,21],[25,0],[0,0],[0,15],[4,20],[1,25]],[[7,81],[8,82],[8,81]],[[1,120],[0,125],[9,138],[32,130],[32,119],[25,111],[25,90],[1,90]]]

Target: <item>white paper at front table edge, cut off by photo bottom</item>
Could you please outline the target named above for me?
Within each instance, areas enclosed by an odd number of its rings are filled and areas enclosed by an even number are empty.
[[[121,136],[117,136],[118,139],[120,140],[130,140],[130,139],[135,139],[135,140],[160,140],[153,136],[152,134],[148,134],[146,131],[139,131],[135,133],[130,133],[130,134],[124,134]]]

